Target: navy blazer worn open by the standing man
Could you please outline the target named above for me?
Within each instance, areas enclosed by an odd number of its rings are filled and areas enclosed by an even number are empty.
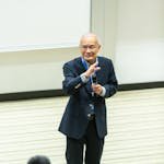
[[[80,74],[85,71],[81,57],[75,58],[63,66],[65,80],[63,92],[70,95],[65,114],[62,116],[59,131],[74,139],[84,136],[91,110],[90,104],[94,104],[95,122],[97,134],[104,138],[107,134],[105,98],[110,97],[117,91],[117,80],[110,59],[97,57],[101,70],[96,72],[97,82],[106,89],[106,94],[92,96],[91,83],[83,83]]]

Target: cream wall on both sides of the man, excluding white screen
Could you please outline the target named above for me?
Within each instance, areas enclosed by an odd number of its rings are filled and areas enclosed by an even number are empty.
[[[164,1],[92,0],[91,30],[120,84],[164,81]],[[78,47],[0,52],[0,93],[61,89],[62,65]]]

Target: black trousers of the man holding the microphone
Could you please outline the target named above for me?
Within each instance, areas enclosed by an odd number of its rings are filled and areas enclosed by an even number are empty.
[[[85,154],[83,154],[84,145]],[[67,137],[67,164],[83,164],[83,155],[85,155],[85,164],[101,164],[103,147],[104,139],[98,138],[95,120],[91,120],[82,139]]]

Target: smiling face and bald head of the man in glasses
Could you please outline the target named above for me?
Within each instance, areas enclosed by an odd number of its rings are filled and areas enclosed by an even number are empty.
[[[96,60],[97,52],[99,51],[99,44],[95,36],[84,36],[80,43],[80,50],[82,57],[90,63],[94,63]]]

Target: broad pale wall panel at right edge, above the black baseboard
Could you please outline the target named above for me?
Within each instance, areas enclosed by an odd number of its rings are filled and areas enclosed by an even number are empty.
[[[119,83],[164,81],[164,1],[118,0],[116,28]]]

